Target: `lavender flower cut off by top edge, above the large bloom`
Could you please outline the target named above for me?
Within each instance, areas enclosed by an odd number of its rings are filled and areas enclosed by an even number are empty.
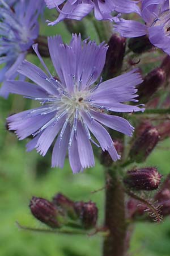
[[[56,8],[59,16],[54,22],[49,22],[49,25],[55,25],[63,19],[81,20],[94,10],[95,18],[98,20],[114,20],[113,11],[118,13],[138,13],[140,9],[137,2],[133,0],[45,0],[46,6],[49,9]],[[62,9],[59,5],[63,3]]]

